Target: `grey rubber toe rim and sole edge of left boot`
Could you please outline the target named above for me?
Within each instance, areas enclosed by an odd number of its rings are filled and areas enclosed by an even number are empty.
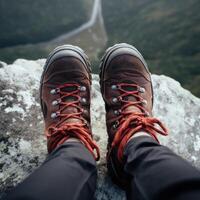
[[[47,57],[47,60],[46,60],[46,63],[44,65],[43,72],[41,75],[41,79],[40,79],[40,105],[41,105],[42,110],[43,110],[43,106],[42,106],[42,101],[41,101],[42,99],[41,95],[42,95],[42,82],[44,79],[44,75],[47,72],[48,67],[50,66],[52,62],[54,62],[57,59],[67,57],[67,56],[73,56],[79,59],[84,64],[85,69],[87,70],[89,78],[91,80],[91,64],[89,62],[89,58],[80,47],[73,46],[73,45],[63,45],[63,46],[59,46],[55,48]]]

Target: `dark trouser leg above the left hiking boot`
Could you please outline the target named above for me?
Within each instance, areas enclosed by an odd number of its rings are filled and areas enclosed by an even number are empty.
[[[66,142],[6,200],[89,200],[94,198],[96,179],[96,162],[91,153],[80,142]]]

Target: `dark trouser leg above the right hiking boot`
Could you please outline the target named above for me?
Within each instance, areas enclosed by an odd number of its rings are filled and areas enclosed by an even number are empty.
[[[124,155],[128,199],[200,199],[200,171],[151,137],[133,138]]]

